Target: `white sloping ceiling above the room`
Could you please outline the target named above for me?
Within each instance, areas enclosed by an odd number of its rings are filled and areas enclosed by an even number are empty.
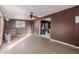
[[[30,20],[30,12],[33,12],[38,17],[43,17],[74,6],[75,5],[1,5],[0,10],[5,18]]]

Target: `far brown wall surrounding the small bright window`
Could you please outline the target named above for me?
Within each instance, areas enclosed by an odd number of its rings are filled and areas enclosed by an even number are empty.
[[[9,22],[5,22],[5,30],[14,30],[16,35],[29,34],[32,32],[32,21],[25,21],[25,28],[16,28],[16,21],[17,20],[11,19]]]

